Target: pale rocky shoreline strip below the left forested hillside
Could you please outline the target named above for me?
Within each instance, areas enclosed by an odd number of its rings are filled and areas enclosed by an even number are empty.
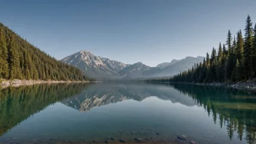
[[[61,83],[96,83],[97,81],[41,81],[41,80],[5,80],[0,79],[0,89],[6,87],[20,87],[20,86],[28,86],[33,84],[61,84]]]

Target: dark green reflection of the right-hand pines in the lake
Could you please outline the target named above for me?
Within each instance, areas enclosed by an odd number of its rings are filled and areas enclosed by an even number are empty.
[[[213,121],[219,119],[220,127],[225,125],[230,139],[234,132],[237,138],[255,142],[256,138],[256,97],[254,92],[225,89],[220,87],[202,87],[191,84],[170,84],[170,86],[192,97],[201,105]]]

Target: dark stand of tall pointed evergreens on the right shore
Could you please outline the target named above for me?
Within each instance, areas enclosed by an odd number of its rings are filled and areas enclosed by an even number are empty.
[[[202,63],[193,65],[188,71],[183,71],[169,79],[181,82],[236,82],[256,78],[256,24],[252,26],[251,18],[247,17],[243,34],[236,36],[228,31],[225,44],[218,49],[213,48],[212,54],[207,53]]]

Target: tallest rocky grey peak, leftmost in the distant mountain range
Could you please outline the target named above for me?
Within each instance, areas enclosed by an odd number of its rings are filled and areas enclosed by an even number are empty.
[[[115,60],[95,56],[92,52],[86,50],[76,52],[61,61],[79,68],[84,73],[87,73],[87,76],[96,79],[121,79],[119,71],[128,66]]]

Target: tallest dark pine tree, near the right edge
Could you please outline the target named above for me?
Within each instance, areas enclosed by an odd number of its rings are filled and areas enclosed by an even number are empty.
[[[244,77],[252,78],[252,21],[249,15],[247,16],[246,26],[244,29]]]

